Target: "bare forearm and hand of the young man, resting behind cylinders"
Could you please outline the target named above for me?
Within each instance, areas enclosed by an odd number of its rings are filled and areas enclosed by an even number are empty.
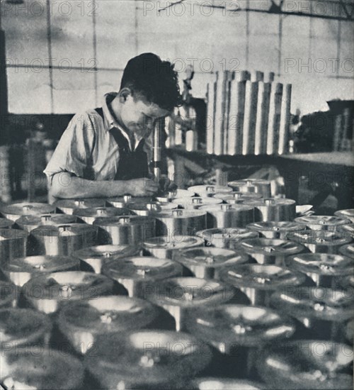
[[[69,172],[59,172],[52,177],[51,196],[62,199],[109,198],[131,194],[132,196],[152,196],[159,186],[151,179],[133,180],[86,180],[73,177]]]

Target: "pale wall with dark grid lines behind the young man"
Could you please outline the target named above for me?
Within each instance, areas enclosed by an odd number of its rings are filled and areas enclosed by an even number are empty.
[[[198,97],[205,96],[212,79],[208,71],[226,67],[274,71],[281,82],[291,82],[292,112],[326,109],[329,99],[353,99],[353,22],[230,11],[245,5],[268,9],[269,0],[215,2],[228,4],[228,11],[190,0],[158,12],[166,4],[2,1],[9,111],[74,113],[100,106],[106,91],[119,89],[127,60],[147,51],[176,62],[181,78],[193,61]],[[295,11],[306,11],[308,4],[315,2],[285,2]],[[315,11],[324,13],[324,8]],[[326,9],[328,15],[335,13],[338,9]]]

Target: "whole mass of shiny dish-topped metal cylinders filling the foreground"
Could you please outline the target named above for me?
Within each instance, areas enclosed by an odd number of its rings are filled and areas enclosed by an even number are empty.
[[[354,210],[269,196],[1,206],[1,386],[351,389]]]

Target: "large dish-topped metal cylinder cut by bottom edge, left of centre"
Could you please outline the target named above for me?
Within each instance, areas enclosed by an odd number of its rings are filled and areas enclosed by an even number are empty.
[[[101,389],[183,389],[210,360],[193,335],[133,330],[98,337],[84,363]]]

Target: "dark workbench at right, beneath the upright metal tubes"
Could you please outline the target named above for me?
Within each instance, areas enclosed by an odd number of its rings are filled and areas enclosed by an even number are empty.
[[[329,194],[338,199],[338,208],[353,208],[354,155],[353,152],[324,152],[292,155],[208,155],[203,150],[187,152],[183,147],[166,150],[166,156],[174,162],[175,177],[184,178],[182,184],[197,175],[207,176],[212,169],[233,172],[245,179],[250,168],[276,167],[285,182],[285,196],[299,201],[299,184],[307,182],[318,192],[314,206],[321,204]]]

